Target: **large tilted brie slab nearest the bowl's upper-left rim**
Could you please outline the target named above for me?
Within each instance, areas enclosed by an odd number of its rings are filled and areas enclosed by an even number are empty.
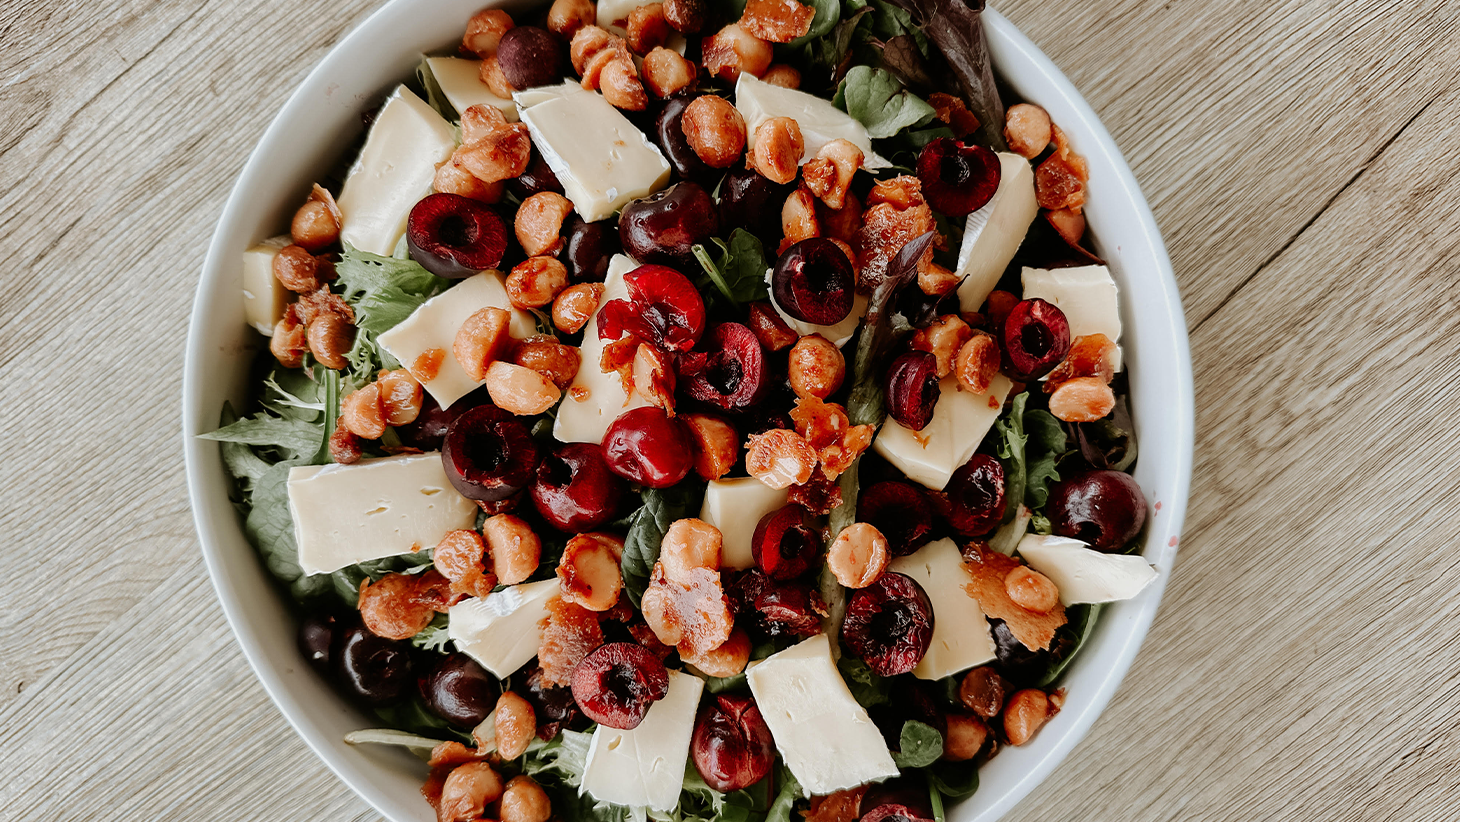
[[[406,234],[406,218],[431,193],[437,166],[456,150],[456,127],[406,86],[375,115],[365,147],[345,178],[340,239],[388,257]]]

